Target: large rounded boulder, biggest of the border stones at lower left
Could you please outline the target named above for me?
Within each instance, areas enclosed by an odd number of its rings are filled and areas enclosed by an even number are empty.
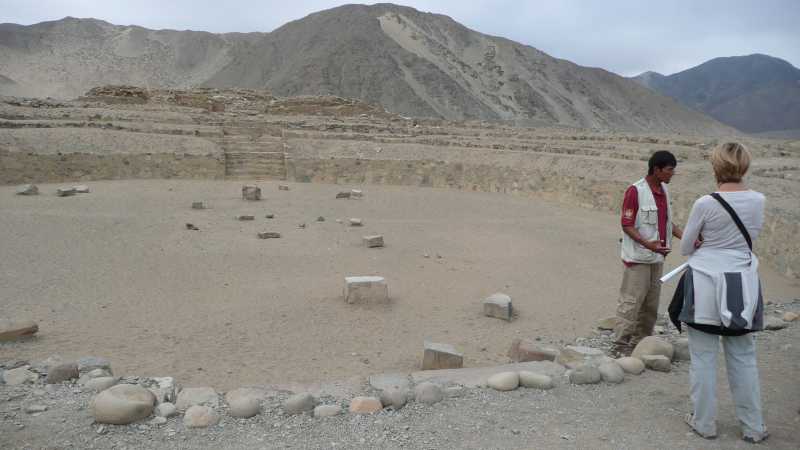
[[[96,422],[126,425],[149,416],[155,401],[153,393],[141,386],[118,384],[97,394],[90,408]]]

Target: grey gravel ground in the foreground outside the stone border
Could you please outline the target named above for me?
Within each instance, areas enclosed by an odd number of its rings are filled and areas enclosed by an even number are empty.
[[[800,311],[800,299],[768,308]],[[797,449],[800,439],[800,326],[759,333],[759,367],[765,417],[771,433],[762,448]],[[582,342],[599,343],[597,335]],[[112,361],[113,364],[113,361]],[[746,449],[739,439],[727,383],[720,382],[720,436],[696,437],[683,424],[689,408],[688,363],[670,373],[646,371],[619,385],[571,386],[560,380],[550,391],[497,392],[464,389],[431,406],[409,403],[399,411],[327,419],[286,416],[281,402],[290,393],[271,391],[264,412],[252,419],[225,413],[219,425],[186,429],[181,418],[164,425],[95,424],[91,394],[68,383],[23,387],[0,385],[2,448],[586,448]],[[723,372],[723,369],[720,369]],[[720,377],[724,377],[720,373]],[[723,378],[721,378],[723,379]],[[363,393],[370,393],[364,384]],[[322,396],[347,405],[347,398]],[[29,405],[45,405],[27,414]]]

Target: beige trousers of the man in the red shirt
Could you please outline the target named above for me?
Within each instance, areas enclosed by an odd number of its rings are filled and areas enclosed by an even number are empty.
[[[615,339],[618,344],[636,345],[653,334],[661,295],[664,263],[634,264],[625,267],[619,290]]]

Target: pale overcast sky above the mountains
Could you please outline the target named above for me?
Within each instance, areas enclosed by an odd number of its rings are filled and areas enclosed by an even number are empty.
[[[332,0],[0,0],[0,22],[65,16],[211,32],[272,31]],[[621,75],[672,74],[717,56],[765,53],[800,67],[800,0],[406,0],[469,28]]]

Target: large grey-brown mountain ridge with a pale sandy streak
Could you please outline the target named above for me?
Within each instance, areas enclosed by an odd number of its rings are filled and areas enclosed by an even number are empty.
[[[341,6],[270,33],[156,31],[69,17],[2,24],[0,67],[17,92],[40,97],[76,97],[104,84],[266,88],[357,98],[410,116],[732,132],[605,70],[391,4]]]

